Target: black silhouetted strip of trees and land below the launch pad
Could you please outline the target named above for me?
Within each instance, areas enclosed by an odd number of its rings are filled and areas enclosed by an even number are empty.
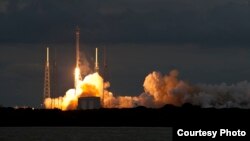
[[[0,126],[246,126],[250,109],[200,108],[165,105],[159,109],[137,107],[61,111],[59,109],[0,108]],[[211,124],[213,123],[213,124]]]

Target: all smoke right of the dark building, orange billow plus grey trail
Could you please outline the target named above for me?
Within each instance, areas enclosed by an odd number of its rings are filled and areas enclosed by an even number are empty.
[[[203,108],[250,108],[250,83],[219,85],[190,84],[178,79],[178,71],[172,70],[167,75],[160,72],[150,73],[144,81],[144,92],[138,97],[113,97],[106,91],[107,107],[130,108],[145,106],[159,108],[166,104],[181,106],[185,103]]]

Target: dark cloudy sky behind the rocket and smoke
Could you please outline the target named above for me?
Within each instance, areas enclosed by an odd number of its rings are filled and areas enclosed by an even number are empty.
[[[192,84],[250,80],[249,0],[0,0],[1,105],[40,105],[46,46],[59,95],[73,87],[76,25],[90,64],[107,48],[115,95],[139,95],[154,70]]]

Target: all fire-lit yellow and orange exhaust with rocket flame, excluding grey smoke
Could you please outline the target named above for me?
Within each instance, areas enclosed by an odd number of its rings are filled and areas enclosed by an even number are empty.
[[[80,69],[75,68],[75,88],[69,89],[62,97],[45,99],[45,108],[74,110],[77,109],[79,97],[89,96],[100,97],[104,108],[132,108],[138,105],[149,107],[161,107],[164,104],[178,105],[182,103],[180,97],[183,90],[184,93],[186,90],[189,90],[188,85],[177,79],[177,71],[171,71],[169,75],[165,76],[153,72],[145,78],[143,84],[145,93],[137,97],[115,97],[112,92],[107,90],[110,87],[110,83],[104,83],[98,72],[88,74],[83,80],[80,74]],[[182,91],[176,91],[176,88]],[[178,96],[176,96],[177,94]]]

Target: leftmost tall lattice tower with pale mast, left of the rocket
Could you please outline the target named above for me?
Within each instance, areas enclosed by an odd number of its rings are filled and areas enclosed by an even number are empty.
[[[44,75],[44,92],[43,98],[50,98],[50,67],[49,67],[49,48],[47,47],[47,57],[45,64],[45,75]]]

